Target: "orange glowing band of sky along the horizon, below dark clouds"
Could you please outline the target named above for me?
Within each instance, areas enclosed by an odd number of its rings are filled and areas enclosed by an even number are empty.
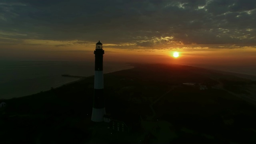
[[[93,61],[95,42],[82,43],[74,40],[57,42],[51,40],[27,40],[26,44],[4,46],[0,49],[2,59],[39,61]],[[256,48],[220,48],[201,46],[200,48],[127,48],[104,47],[104,61],[138,63],[177,63],[177,64],[256,64]],[[105,45],[104,45],[105,46]],[[3,46],[2,46],[3,47]],[[178,52],[175,54],[174,52]],[[178,56],[178,57],[176,57]]]

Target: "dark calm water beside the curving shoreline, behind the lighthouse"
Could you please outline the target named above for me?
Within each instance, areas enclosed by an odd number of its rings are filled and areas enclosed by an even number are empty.
[[[94,75],[94,62],[0,62],[0,98],[13,98],[50,90],[78,80],[62,77]],[[104,73],[132,68],[123,63],[104,62]]]

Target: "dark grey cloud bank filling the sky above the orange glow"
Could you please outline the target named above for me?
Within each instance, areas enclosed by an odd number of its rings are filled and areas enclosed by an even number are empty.
[[[256,0],[0,0],[0,37],[14,42],[255,45],[255,36]]]

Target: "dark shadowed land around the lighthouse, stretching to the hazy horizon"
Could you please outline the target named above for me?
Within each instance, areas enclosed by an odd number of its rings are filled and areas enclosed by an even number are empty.
[[[139,122],[131,132],[90,121],[90,76],[0,100],[7,104],[0,108],[0,142],[256,143],[256,81],[192,66],[132,65],[104,74],[106,112],[125,123]],[[182,84],[186,82],[195,85]]]

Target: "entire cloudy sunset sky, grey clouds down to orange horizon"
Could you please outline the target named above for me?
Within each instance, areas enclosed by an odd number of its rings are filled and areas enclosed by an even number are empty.
[[[93,60],[98,40],[106,61],[256,64],[256,0],[0,0],[0,60]]]

